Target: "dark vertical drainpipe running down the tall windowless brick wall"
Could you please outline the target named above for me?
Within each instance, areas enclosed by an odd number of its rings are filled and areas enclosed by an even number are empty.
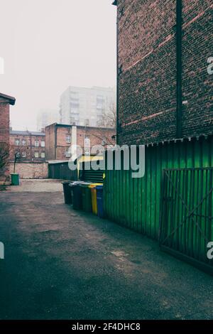
[[[182,0],[176,1],[177,138],[182,138]]]

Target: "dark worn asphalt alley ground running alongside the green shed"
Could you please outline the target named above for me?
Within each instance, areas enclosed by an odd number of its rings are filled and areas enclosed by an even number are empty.
[[[63,203],[60,181],[0,191],[1,319],[209,319],[211,276]]]

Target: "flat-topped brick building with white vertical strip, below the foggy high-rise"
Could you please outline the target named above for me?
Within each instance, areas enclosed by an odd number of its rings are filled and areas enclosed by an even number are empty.
[[[67,160],[71,156],[70,146],[79,145],[82,153],[89,155],[94,145],[114,145],[114,129],[91,126],[51,124],[45,127],[45,151],[47,160]]]

